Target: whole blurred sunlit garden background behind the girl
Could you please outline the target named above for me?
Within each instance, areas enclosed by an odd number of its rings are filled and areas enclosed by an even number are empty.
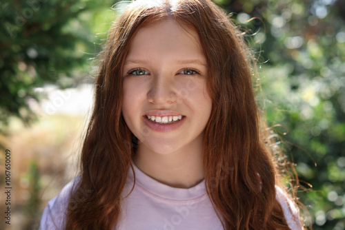
[[[258,59],[260,107],[296,164],[313,229],[345,229],[345,1],[215,1]],[[0,3],[0,210],[12,153],[11,225],[38,229],[77,174],[97,53],[126,2]],[[259,80],[259,81],[257,81]]]

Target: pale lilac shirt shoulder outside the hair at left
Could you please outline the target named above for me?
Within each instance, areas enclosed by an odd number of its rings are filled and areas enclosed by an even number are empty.
[[[79,177],[71,180],[59,195],[55,196],[48,202],[46,209],[44,209],[39,230],[60,230],[63,229],[64,220],[67,213],[68,201],[70,193],[75,189],[79,182]]]

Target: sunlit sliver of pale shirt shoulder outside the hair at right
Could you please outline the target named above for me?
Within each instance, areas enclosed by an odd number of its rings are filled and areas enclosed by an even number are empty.
[[[288,227],[290,227],[291,230],[302,230],[302,223],[301,220],[299,220],[299,210],[295,202],[288,198],[284,191],[277,185],[275,186],[275,191],[275,198],[282,206]]]

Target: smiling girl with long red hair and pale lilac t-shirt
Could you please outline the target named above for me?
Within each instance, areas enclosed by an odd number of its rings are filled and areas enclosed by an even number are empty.
[[[240,34],[210,0],[130,3],[101,55],[81,175],[40,228],[302,229]]]

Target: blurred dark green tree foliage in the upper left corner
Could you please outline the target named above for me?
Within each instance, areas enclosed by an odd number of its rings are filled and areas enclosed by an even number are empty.
[[[6,131],[10,116],[24,123],[34,119],[28,99],[39,100],[36,87],[70,87],[85,79],[88,59],[99,52],[92,27],[101,15],[113,14],[109,6],[112,1],[1,1],[0,132]],[[98,29],[109,27],[104,24]]]

